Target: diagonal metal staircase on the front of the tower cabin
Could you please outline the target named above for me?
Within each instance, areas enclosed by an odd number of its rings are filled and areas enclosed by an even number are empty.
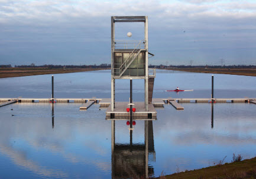
[[[145,50],[145,49],[138,49],[138,46],[140,44],[141,44],[141,42],[138,43],[137,47],[135,47],[135,49],[131,52],[131,54],[129,54],[127,59],[125,59],[124,63],[122,63],[122,65],[119,67],[119,78],[122,76],[122,74],[124,74],[124,72],[127,70],[127,68],[129,68],[129,65],[131,65],[131,63],[140,54],[140,52],[142,50]]]

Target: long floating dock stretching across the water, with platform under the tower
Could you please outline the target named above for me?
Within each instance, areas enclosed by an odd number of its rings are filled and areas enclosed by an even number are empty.
[[[15,102],[51,102],[51,98],[0,98],[0,107],[3,107],[4,105],[12,104]],[[148,104],[148,112],[145,112],[144,102],[135,102],[135,105],[137,104],[137,114],[136,112],[134,114],[137,115],[138,118],[154,118],[156,116],[155,108],[163,108],[164,104],[170,103],[173,105],[174,108],[177,110],[184,110],[184,107],[180,105],[180,103],[184,102],[193,102],[193,103],[199,103],[199,102],[248,102],[251,104],[256,104],[256,98],[153,98],[152,104]],[[128,102],[116,102],[115,110],[116,112],[111,112],[109,110],[109,106],[111,104],[111,98],[55,98],[54,102],[79,102],[79,103],[85,103],[80,109],[88,109],[92,104],[99,103],[101,106],[100,108],[107,108],[107,118],[108,115],[112,113],[112,115],[115,115],[116,117],[125,117],[128,118],[128,112],[126,112],[126,108],[128,107]],[[155,108],[154,108],[155,107]],[[117,114],[120,113],[120,114]],[[125,115],[123,115],[125,114]],[[143,114],[143,115],[142,115]],[[147,114],[149,116],[147,117]]]

